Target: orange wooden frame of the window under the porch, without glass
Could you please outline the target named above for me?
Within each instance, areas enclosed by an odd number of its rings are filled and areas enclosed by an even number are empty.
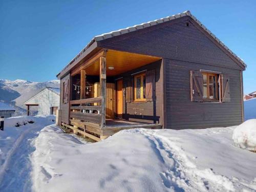
[[[136,74],[133,76],[133,101],[134,102],[141,102],[141,101],[146,101],[146,96],[145,98],[141,98],[141,99],[137,99],[136,95],[137,95],[137,78],[140,77],[140,94],[141,96],[143,97],[143,93],[144,91],[146,91],[146,86],[145,86],[145,90],[143,89],[143,80],[145,79],[146,80],[146,72],[142,72],[142,73],[139,73],[139,74]]]

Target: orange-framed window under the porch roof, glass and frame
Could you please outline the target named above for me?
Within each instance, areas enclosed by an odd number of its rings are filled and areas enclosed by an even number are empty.
[[[134,101],[146,100],[146,74],[134,76]]]

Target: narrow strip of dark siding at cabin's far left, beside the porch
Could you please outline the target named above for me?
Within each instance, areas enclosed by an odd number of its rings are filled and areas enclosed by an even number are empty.
[[[66,75],[65,77],[63,77],[62,79],[60,79],[60,105],[59,108],[61,110],[61,122],[67,123],[69,124],[69,102],[68,103],[63,103],[63,82],[69,79],[69,90],[70,89],[70,85],[71,85],[71,78],[70,78],[70,74]],[[70,97],[71,95],[69,95],[69,101],[71,99]]]

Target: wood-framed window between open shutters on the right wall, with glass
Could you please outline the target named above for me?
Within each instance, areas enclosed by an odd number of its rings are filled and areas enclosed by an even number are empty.
[[[218,100],[218,74],[202,73],[203,74],[203,99]]]

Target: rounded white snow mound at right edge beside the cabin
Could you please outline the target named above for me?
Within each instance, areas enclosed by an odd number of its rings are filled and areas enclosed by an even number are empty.
[[[249,119],[233,131],[234,145],[249,151],[256,151],[256,119]]]

